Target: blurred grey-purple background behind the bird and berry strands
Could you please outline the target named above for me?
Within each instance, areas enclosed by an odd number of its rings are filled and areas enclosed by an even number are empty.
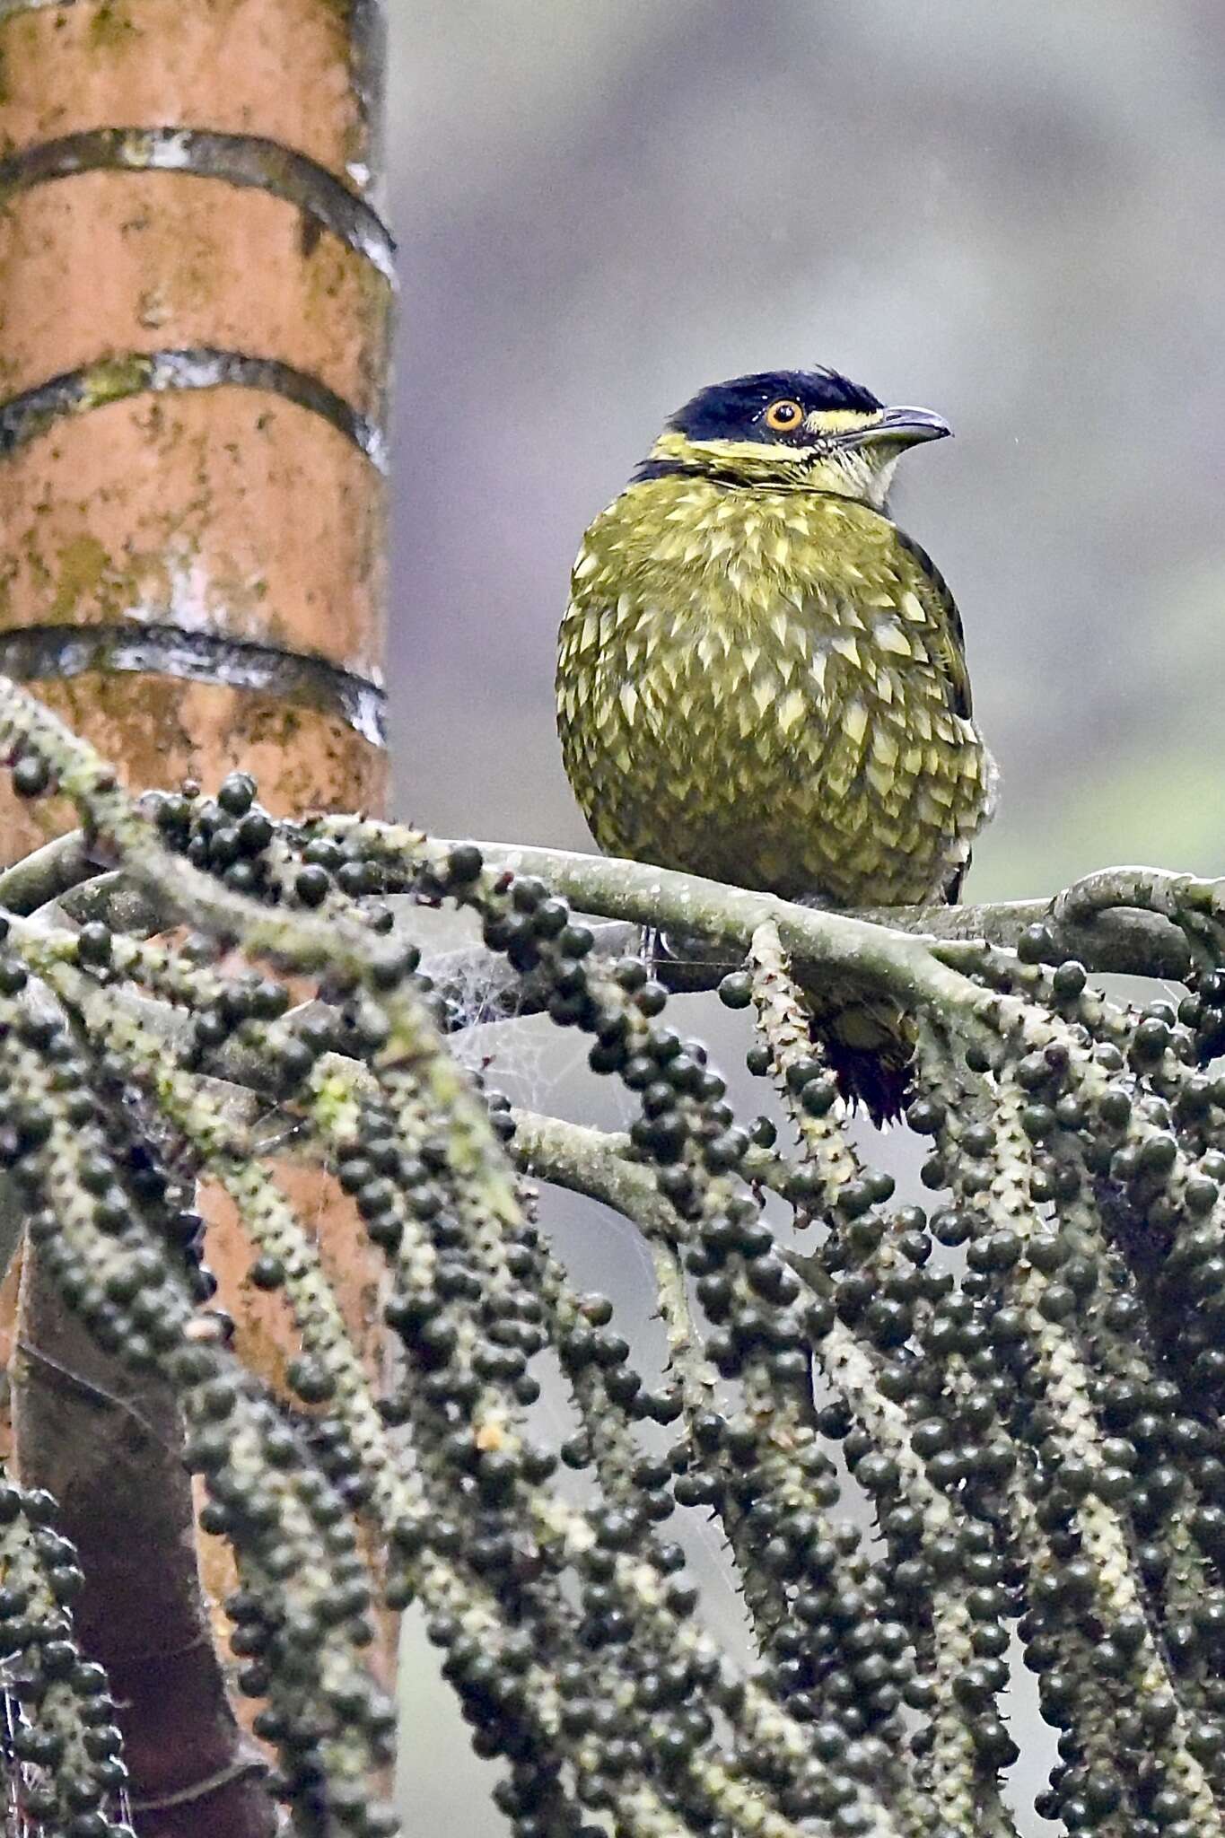
[[[894,511],[961,603],[1003,766],[970,897],[1219,873],[1219,0],[388,4],[397,812],[588,845],[553,730],[582,529],[696,388],[823,362],[957,432]],[[735,1068],[738,1020],[680,1024]],[[571,1038],[492,1033],[516,1099],[617,1121]],[[905,1140],[874,1154],[913,1178]],[[657,1364],[628,1230],[549,1222]],[[729,1590],[711,1614],[735,1639]],[[410,1630],[410,1831],[485,1838],[490,1770],[430,1676]]]

